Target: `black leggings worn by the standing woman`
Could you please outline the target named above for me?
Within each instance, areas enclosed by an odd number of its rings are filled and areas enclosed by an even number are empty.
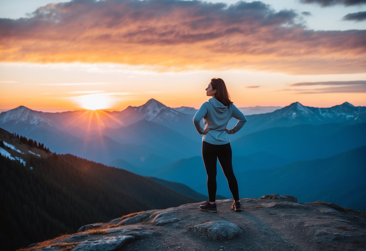
[[[235,201],[239,200],[238,182],[232,170],[232,151],[230,143],[224,145],[213,145],[205,141],[202,142],[202,157],[207,173],[207,190],[210,202],[216,200],[216,163],[217,158],[224,175],[228,180],[229,188]]]

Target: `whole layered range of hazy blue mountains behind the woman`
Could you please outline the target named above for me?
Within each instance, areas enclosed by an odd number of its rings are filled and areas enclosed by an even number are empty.
[[[0,127],[44,142],[57,153],[206,193],[201,135],[192,123],[196,111],[169,108],[153,99],[120,112],[43,113],[20,106],[0,114]],[[366,107],[348,102],[330,108],[294,102],[273,112],[248,115],[242,130],[230,135],[235,172],[276,169],[365,146],[365,114]],[[229,121],[228,128],[235,123]],[[230,197],[221,172],[217,180],[218,194]]]

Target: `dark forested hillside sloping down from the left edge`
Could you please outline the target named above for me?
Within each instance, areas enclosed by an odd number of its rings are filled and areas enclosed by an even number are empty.
[[[26,247],[135,211],[201,201],[70,154],[29,154],[23,159],[25,165],[0,155],[1,250]]]

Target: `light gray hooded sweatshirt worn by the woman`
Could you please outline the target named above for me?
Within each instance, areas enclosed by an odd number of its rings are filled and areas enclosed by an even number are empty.
[[[227,132],[225,129],[232,117],[237,119],[238,123]],[[199,124],[202,118],[205,128]],[[214,145],[229,143],[228,134],[235,134],[246,121],[245,115],[234,104],[225,106],[216,98],[210,98],[208,102],[204,102],[193,117],[193,123],[198,133],[203,134],[202,141]]]

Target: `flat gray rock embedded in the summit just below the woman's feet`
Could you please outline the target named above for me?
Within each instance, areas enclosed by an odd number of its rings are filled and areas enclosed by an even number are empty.
[[[193,232],[211,240],[231,240],[242,231],[229,221],[211,221],[193,227]]]

